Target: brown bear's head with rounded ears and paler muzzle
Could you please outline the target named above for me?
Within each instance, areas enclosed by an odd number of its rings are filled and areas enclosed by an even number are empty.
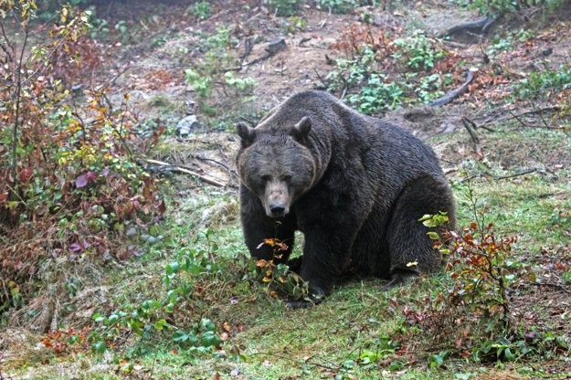
[[[238,123],[236,129],[241,139],[237,164],[242,184],[259,197],[267,216],[288,215],[293,202],[312,188],[316,177],[308,148],[312,121],[304,117],[280,128]]]

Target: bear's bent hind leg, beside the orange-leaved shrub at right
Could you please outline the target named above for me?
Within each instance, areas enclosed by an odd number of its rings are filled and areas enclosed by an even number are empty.
[[[449,227],[453,227],[454,200],[444,179],[422,176],[407,185],[398,196],[386,234],[391,261],[391,280],[386,288],[403,285],[442,265],[441,255],[427,235],[428,231],[436,229],[418,221],[426,214],[434,215],[439,211],[448,213]]]

